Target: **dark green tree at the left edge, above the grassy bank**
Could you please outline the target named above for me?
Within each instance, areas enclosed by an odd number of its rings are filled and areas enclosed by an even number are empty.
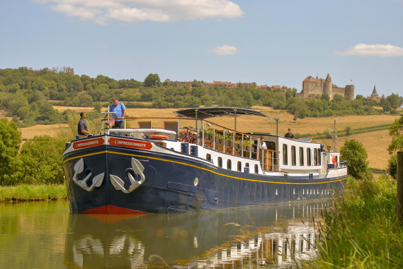
[[[0,119],[0,185],[15,185],[21,163],[17,159],[21,132],[15,122]]]

